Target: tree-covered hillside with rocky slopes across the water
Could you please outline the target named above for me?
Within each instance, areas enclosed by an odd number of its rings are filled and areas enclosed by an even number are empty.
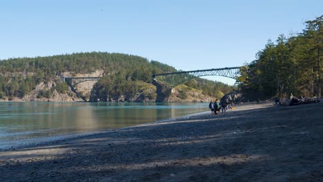
[[[106,52],[2,60],[0,70],[0,99],[19,98],[26,101],[51,99],[57,94],[72,97],[75,93],[59,77],[75,77],[97,70],[101,70],[104,77],[94,85],[90,93],[80,92],[79,96],[84,94],[83,97],[90,101],[155,101],[157,93],[151,75],[176,71],[158,61]],[[196,101],[220,98],[233,89],[224,83],[199,78],[184,85],[179,86],[180,93],[176,95],[179,100],[176,101],[193,101],[188,98],[196,96],[196,92],[200,92]]]

